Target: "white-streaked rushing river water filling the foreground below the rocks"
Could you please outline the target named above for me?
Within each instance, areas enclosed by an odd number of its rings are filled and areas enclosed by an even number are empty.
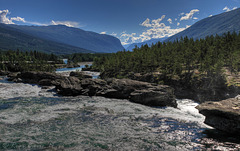
[[[177,103],[178,108],[154,108],[103,97],[61,97],[54,88],[2,79],[0,150],[236,149],[238,144],[214,139],[204,143],[209,138],[203,132],[211,128],[203,124],[197,103]]]

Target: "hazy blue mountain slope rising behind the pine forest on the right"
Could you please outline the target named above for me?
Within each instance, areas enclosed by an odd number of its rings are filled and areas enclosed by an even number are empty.
[[[174,41],[185,36],[188,36],[188,38],[200,39],[210,35],[221,35],[228,31],[240,31],[240,8],[200,20],[191,27],[169,37],[165,41]]]

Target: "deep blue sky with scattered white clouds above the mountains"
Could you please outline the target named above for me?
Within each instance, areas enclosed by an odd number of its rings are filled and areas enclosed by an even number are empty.
[[[240,7],[240,0],[0,0],[0,23],[63,24],[120,39],[123,45],[174,35]]]

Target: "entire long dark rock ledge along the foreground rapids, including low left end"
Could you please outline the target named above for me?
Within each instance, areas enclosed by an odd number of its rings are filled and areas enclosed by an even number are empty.
[[[128,99],[148,106],[177,107],[174,91],[166,85],[130,79],[91,79],[76,73],[66,77],[48,72],[23,72],[12,75],[10,79],[41,86],[56,86],[57,93],[63,96],[104,96]]]

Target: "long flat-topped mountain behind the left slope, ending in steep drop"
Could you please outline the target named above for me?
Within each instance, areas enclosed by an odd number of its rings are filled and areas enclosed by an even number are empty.
[[[84,31],[79,28],[67,27],[64,25],[9,26],[34,37],[64,43],[94,52],[111,53],[124,49],[120,40],[116,37]]]

